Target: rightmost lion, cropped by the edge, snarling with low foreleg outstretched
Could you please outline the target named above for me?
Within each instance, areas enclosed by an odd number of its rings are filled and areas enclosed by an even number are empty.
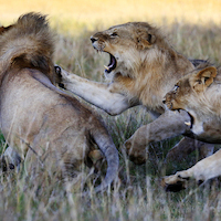
[[[221,144],[221,69],[203,67],[182,77],[166,95],[168,108],[185,109],[191,116],[191,131],[197,139]],[[177,112],[176,112],[177,113]],[[202,183],[221,176],[221,150],[200,160],[188,170],[165,177],[162,186],[170,191],[185,189],[190,178]]]

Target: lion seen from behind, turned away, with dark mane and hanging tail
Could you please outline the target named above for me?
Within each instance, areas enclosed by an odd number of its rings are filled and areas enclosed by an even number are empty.
[[[28,173],[43,169],[74,183],[84,162],[92,166],[101,151],[107,172],[99,191],[117,176],[118,152],[101,119],[53,85],[54,39],[40,13],[0,28],[0,120],[9,145],[2,164],[11,154],[12,165],[23,161]]]

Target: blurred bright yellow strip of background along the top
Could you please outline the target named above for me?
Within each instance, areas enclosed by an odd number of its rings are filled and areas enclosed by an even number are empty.
[[[157,25],[221,21],[220,0],[0,0],[0,23],[11,23],[29,11],[49,14],[53,27],[69,32],[135,20]]]

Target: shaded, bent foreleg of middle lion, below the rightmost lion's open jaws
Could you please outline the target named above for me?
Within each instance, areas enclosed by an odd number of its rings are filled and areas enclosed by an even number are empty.
[[[190,116],[187,112],[167,110],[152,123],[137,129],[126,140],[125,148],[129,159],[135,164],[144,164],[147,160],[146,147],[154,141],[161,141],[190,129]]]

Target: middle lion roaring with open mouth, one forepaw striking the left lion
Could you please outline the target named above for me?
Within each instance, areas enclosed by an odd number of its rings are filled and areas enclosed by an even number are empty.
[[[173,112],[165,112],[161,101],[180,77],[202,61],[194,60],[191,63],[170,46],[159,29],[146,22],[112,27],[94,34],[91,41],[96,51],[109,54],[109,64],[105,66],[104,73],[110,78],[110,83],[92,82],[62,70],[63,85],[110,115],[144,105],[152,116],[158,117],[140,127],[125,143],[127,154],[134,162],[146,161],[146,147],[149,143],[189,134],[190,127],[185,124],[190,120],[188,113],[175,115]],[[187,143],[189,147],[194,147],[193,139],[185,138],[172,149],[170,156],[176,150],[181,155],[180,149]],[[199,141],[198,146],[202,146],[202,143]],[[204,146],[206,150],[213,149],[211,145]]]

